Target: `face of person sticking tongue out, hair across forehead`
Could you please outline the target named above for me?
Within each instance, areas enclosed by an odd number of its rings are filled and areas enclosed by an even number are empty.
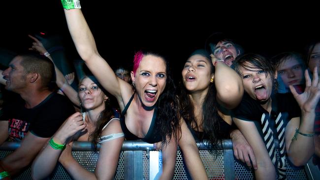
[[[242,82],[244,90],[255,100],[266,101],[270,98],[272,93],[273,79],[270,74],[267,74],[262,69],[253,67],[246,69],[240,67],[242,72]]]

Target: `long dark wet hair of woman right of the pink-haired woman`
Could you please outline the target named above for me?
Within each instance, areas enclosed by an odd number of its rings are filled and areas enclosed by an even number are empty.
[[[208,60],[210,64],[211,74],[215,73],[215,68],[211,63],[210,56],[204,50],[197,50],[192,53],[193,55],[201,55]],[[190,57],[191,57],[190,56]],[[222,147],[222,135],[220,133],[220,120],[222,120],[218,114],[218,102],[216,100],[217,90],[214,83],[210,83],[208,93],[204,98],[202,104],[202,117],[201,124],[197,124],[197,120],[194,116],[194,105],[189,97],[190,92],[185,88],[183,83],[180,83],[181,93],[179,95],[180,102],[180,114],[186,121],[187,125],[199,131],[199,127],[202,127],[203,134],[199,138],[199,141],[207,141],[207,147],[214,155],[219,155],[220,151],[213,150],[214,148]],[[207,137],[208,139],[204,139]]]

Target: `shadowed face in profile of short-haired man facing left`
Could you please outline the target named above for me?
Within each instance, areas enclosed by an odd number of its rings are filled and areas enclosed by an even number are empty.
[[[27,87],[27,74],[24,67],[20,64],[21,56],[15,57],[9,64],[9,67],[2,72],[6,80],[5,89],[14,92],[21,92]]]

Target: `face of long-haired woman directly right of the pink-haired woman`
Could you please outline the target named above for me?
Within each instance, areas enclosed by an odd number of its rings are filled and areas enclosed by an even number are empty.
[[[190,92],[207,90],[214,74],[210,61],[201,55],[191,56],[182,70],[182,81]],[[211,63],[212,64],[212,63]]]

